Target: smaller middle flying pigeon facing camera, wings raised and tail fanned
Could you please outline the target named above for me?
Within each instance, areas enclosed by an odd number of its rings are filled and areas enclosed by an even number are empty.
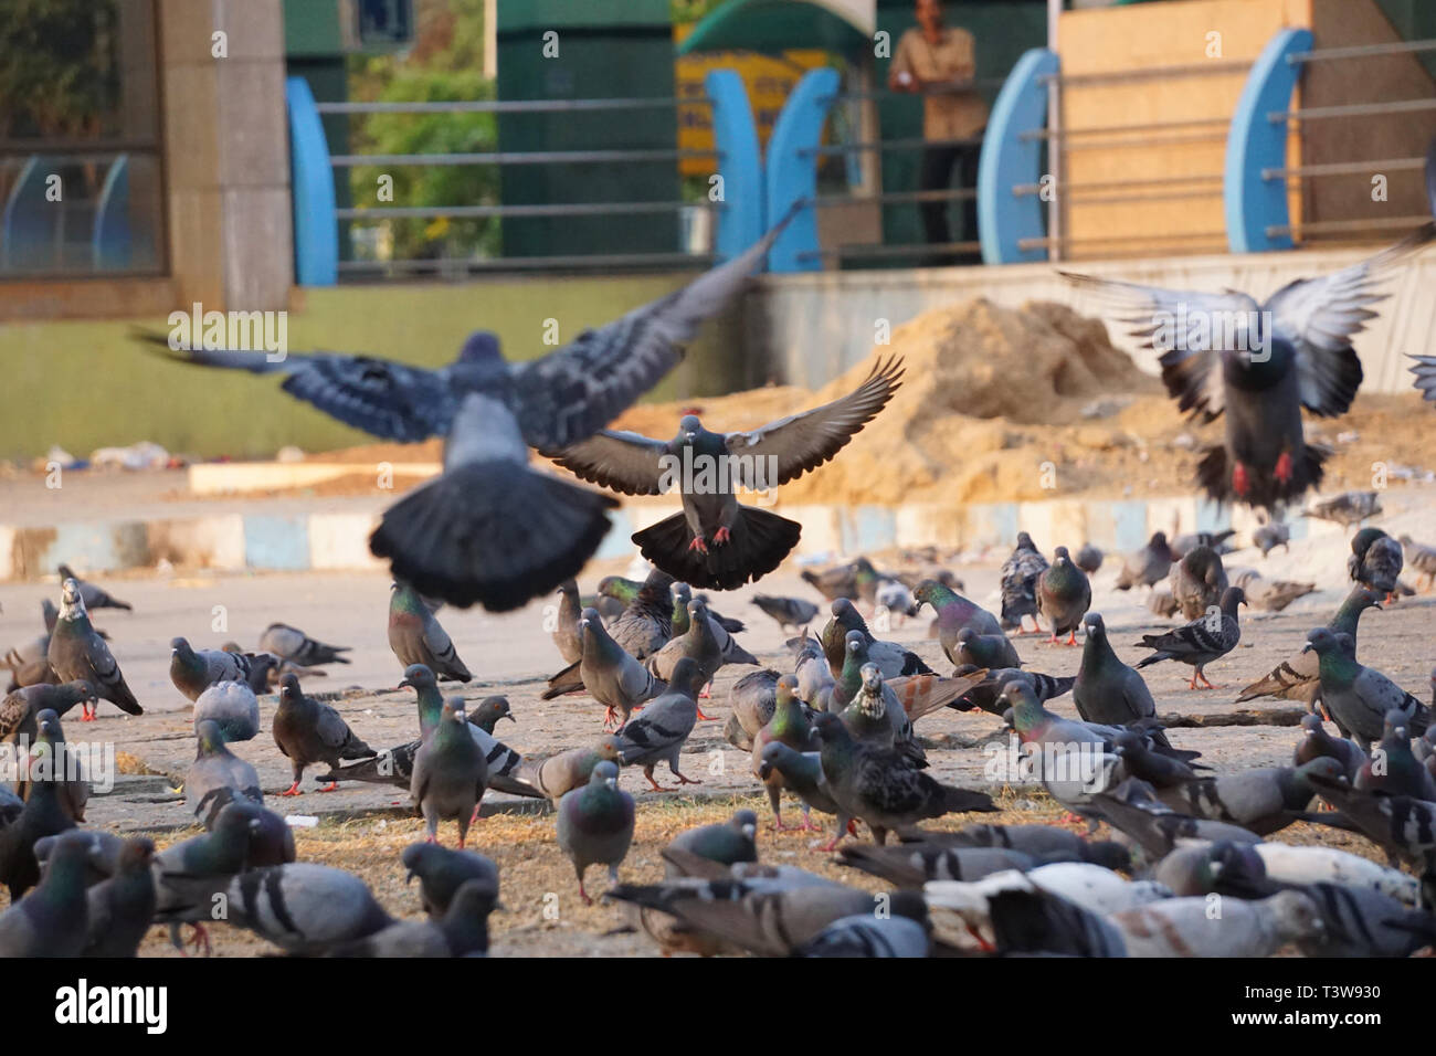
[[[747,432],[711,432],[685,414],[668,441],[602,430],[543,454],[580,480],[623,494],[676,487],[682,510],[633,533],[643,557],[695,588],[734,590],[773,572],[801,527],[738,501],[740,487],[775,488],[833,458],[883,409],[902,361],[879,361],[850,394]]]

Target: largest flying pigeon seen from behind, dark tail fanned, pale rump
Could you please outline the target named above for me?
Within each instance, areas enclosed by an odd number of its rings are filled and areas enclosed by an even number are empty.
[[[617,506],[528,468],[528,448],[587,440],[652,388],[699,323],[742,290],[781,228],[682,290],[527,362],[505,361],[487,330],[438,369],[346,352],[271,359],[146,339],[178,362],[284,374],[292,397],[381,440],[444,437],[444,473],[385,511],[369,549],[426,596],[507,612],[577,575]]]

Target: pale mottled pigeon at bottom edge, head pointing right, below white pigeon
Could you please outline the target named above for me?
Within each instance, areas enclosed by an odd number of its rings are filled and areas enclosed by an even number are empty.
[[[1245,902],[1228,898],[1213,915],[1208,898],[1165,898],[1110,914],[1129,957],[1269,957],[1288,942],[1317,940],[1325,925],[1310,895],[1281,891]]]

